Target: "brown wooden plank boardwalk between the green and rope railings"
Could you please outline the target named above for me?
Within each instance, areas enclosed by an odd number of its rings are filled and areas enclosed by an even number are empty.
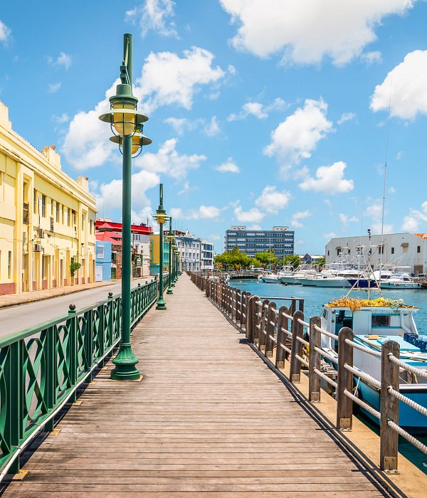
[[[189,277],[167,298],[132,336],[143,381],[110,381],[108,364],[4,496],[394,496]]]

